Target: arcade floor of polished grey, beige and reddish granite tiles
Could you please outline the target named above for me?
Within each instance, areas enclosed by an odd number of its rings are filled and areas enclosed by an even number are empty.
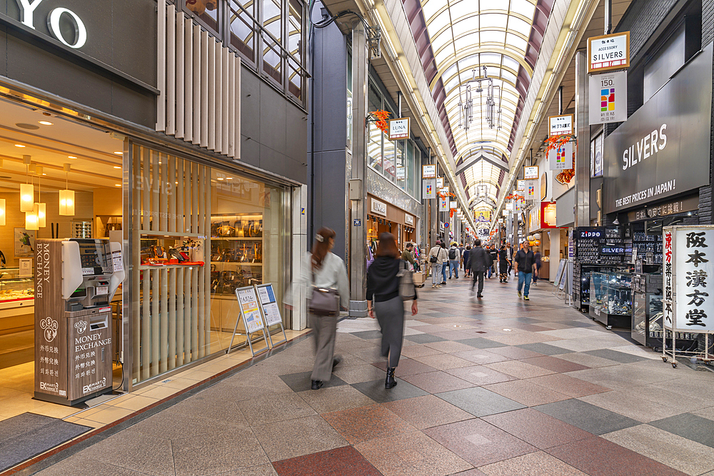
[[[419,290],[398,385],[376,320],[338,325],[310,390],[312,338],[21,475],[714,475],[714,373],[633,345],[541,283]]]

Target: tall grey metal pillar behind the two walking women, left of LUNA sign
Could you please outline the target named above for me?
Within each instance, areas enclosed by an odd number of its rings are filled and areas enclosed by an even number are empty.
[[[351,317],[367,317],[366,247],[367,247],[367,36],[358,21],[352,29],[352,158],[351,179],[359,181],[358,200],[350,201],[351,216],[349,275]],[[359,222],[356,222],[356,221]],[[358,223],[358,226],[356,226]]]

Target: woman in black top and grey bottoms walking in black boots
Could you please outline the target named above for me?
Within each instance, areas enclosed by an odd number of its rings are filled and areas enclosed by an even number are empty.
[[[397,385],[394,370],[399,365],[404,338],[404,301],[399,295],[397,274],[406,267],[399,259],[396,240],[391,233],[380,233],[374,263],[367,272],[367,310],[369,317],[376,318],[382,330],[383,357],[387,358],[387,377],[384,388]],[[416,315],[416,288],[411,303],[411,315]]]

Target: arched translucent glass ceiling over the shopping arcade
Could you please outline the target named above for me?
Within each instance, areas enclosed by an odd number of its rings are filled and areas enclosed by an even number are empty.
[[[405,4],[411,3],[408,0]],[[422,64],[441,110],[444,128],[457,166],[473,149],[496,150],[504,158],[513,148],[518,120],[531,83],[533,66],[550,15],[548,0],[420,0],[429,49],[421,49]],[[424,29],[412,31],[418,44]],[[425,61],[426,59],[426,61]],[[431,60],[431,61],[430,61]],[[501,107],[501,127],[486,122],[486,89],[472,84],[473,120],[468,131],[460,126],[460,94],[473,79],[483,78],[487,67],[493,79],[496,110]],[[483,83],[486,86],[486,83]],[[488,184],[488,198],[496,201],[503,176],[501,168],[478,161],[461,172],[469,198],[476,186]],[[476,203],[476,202],[472,202]]]

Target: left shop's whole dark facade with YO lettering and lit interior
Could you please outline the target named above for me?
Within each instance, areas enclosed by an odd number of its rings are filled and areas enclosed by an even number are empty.
[[[238,40],[265,14],[278,46],[304,44],[303,4],[289,3],[241,10],[238,29],[227,1],[201,16],[166,0],[0,1],[6,385],[32,393],[27,375],[56,370],[35,359],[36,240],[121,244],[109,305],[122,390],[225,353],[236,288],[272,283],[283,303],[307,246],[302,46],[273,61],[260,34],[253,49]],[[300,306],[280,310],[305,327]]]

